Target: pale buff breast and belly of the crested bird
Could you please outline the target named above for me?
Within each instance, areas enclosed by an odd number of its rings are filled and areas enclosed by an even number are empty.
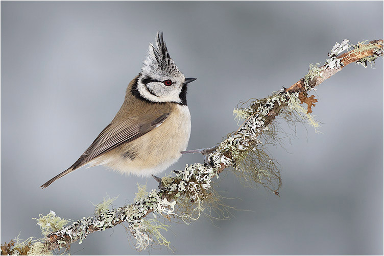
[[[187,106],[176,106],[165,121],[147,134],[107,152],[92,161],[92,165],[105,165],[125,174],[156,175],[181,157],[190,135],[190,114]]]

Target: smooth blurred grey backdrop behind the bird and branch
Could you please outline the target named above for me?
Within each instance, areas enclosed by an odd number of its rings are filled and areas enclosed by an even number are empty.
[[[40,237],[50,210],[77,220],[93,203],[134,198],[145,178],[82,168],[39,186],[73,164],[112,120],[158,30],[189,86],[188,149],[237,130],[240,100],[296,83],[324,63],[335,42],[383,38],[382,2],[1,2],[1,242]],[[297,126],[281,164],[280,197],[219,184],[234,211],[227,221],[172,224],[176,254],[382,254],[383,67],[351,64],[318,87],[315,134]],[[292,133],[284,123],[281,127]],[[173,169],[202,162],[184,156]],[[166,174],[164,173],[164,175]],[[148,188],[157,184],[148,179]],[[148,254],[122,226],[91,234],[71,253]],[[151,254],[169,254],[166,248]]]

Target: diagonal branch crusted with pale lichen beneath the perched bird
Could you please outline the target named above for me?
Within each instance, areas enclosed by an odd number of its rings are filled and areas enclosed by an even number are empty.
[[[347,52],[341,54],[345,50]],[[212,200],[215,197],[211,183],[226,167],[233,167],[248,182],[261,184],[278,195],[280,173],[274,161],[262,150],[260,137],[268,135],[277,115],[292,111],[306,118],[316,129],[318,123],[310,113],[317,99],[314,96],[308,97],[307,92],[350,63],[366,66],[367,62],[373,62],[382,55],[383,40],[355,45],[348,40],[337,43],[323,66],[310,65],[304,78],[290,88],[283,88],[269,97],[251,101],[248,107],[236,109],[234,113],[245,120],[243,125],[228,135],[213,151],[206,153],[206,163],[187,165],[184,170],[175,171],[175,177],[162,179],[163,190],[152,190],[132,204],[112,210],[99,207],[94,217],[83,218],[45,234],[46,237],[39,241],[41,249],[34,248],[34,252],[44,254],[53,249],[67,248],[71,243],[81,243],[93,232],[104,231],[123,222],[135,238],[136,248],[146,249],[154,237],[161,236],[159,233],[154,234],[158,228],[151,226],[152,221],[145,220],[145,217],[152,213],[155,218],[175,217],[187,223],[197,219],[205,207],[217,203]],[[301,106],[303,103],[307,104],[307,108]],[[160,228],[165,229],[164,226]],[[163,244],[168,246],[167,243]],[[26,246],[33,248],[34,243]],[[2,246],[2,254],[10,253],[8,249]],[[17,253],[17,250],[13,252]]]

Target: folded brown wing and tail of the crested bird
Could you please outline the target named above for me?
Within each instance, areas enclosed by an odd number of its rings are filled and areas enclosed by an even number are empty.
[[[141,117],[140,119],[133,117],[123,122],[108,124],[71,167],[41,185],[41,188],[48,187],[62,176],[80,168],[109,150],[148,133],[161,125],[169,115],[170,113],[166,113],[155,119],[153,116]]]

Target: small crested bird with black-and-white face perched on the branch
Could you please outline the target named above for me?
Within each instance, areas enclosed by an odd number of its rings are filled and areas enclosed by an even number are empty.
[[[181,157],[191,122],[185,78],[171,58],[162,32],[150,43],[141,72],[128,84],[124,103],[105,129],[68,169],[41,188],[85,165],[103,165],[122,174],[153,176]]]

